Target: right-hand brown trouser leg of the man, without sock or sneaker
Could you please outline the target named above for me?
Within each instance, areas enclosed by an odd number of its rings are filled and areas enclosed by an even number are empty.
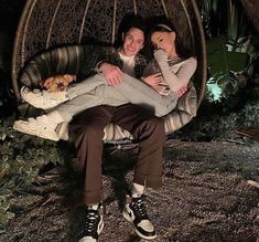
[[[139,140],[134,182],[158,188],[162,181],[162,147],[166,136],[164,122],[143,108],[127,104],[116,108],[112,123],[127,129]]]

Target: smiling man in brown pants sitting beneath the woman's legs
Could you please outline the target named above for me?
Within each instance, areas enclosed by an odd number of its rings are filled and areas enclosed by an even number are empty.
[[[109,85],[119,85],[123,72],[136,77],[142,75],[145,60],[139,51],[144,44],[144,31],[142,19],[132,18],[123,31],[121,48],[116,53],[107,52],[109,57],[98,63],[98,71]],[[112,62],[112,59],[119,60]],[[84,95],[79,98],[84,102]],[[127,196],[123,217],[133,224],[139,236],[154,239],[157,233],[143,204],[143,192],[145,187],[161,186],[164,124],[163,119],[154,117],[148,111],[126,104],[118,107],[102,105],[89,108],[75,117],[69,125],[69,138],[75,144],[78,166],[85,175],[86,217],[80,242],[98,241],[104,228],[101,156],[104,128],[109,123],[130,131],[139,141],[133,183]]]

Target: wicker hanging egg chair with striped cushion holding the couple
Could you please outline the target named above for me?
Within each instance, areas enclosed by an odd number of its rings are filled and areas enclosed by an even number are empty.
[[[143,18],[165,15],[176,28],[183,45],[197,56],[193,77],[195,90],[181,97],[177,108],[164,117],[171,134],[187,124],[203,99],[207,81],[206,44],[195,0],[28,0],[22,12],[12,56],[12,85],[20,101],[21,72],[39,53],[67,44],[114,44],[122,18],[138,13]],[[58,129],[67,139],[67,124]],[[104,140],[130,139],[131,135],[109,124]]]

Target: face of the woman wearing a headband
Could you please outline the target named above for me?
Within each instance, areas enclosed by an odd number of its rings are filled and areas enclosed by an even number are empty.
[[[175,32],[155,31],[151,35],[155,49],[164,50],[169,56],[175,55]]]

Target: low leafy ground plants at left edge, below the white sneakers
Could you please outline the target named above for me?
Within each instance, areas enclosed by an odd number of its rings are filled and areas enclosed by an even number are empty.
[[[48,162],[63,164],[56,143],[17,133],[0,120],[0,224],[14,217],[8,199],[15,187],[14,178],[29,185]]]

